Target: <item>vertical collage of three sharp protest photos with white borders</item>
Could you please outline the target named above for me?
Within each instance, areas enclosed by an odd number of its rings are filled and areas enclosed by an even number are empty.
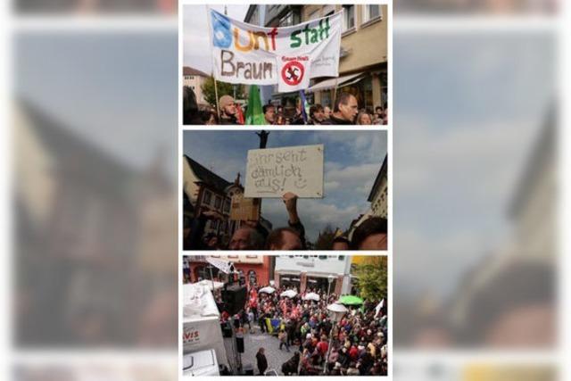
[[[181,3],[179,376],[389,376],[391,4]]]

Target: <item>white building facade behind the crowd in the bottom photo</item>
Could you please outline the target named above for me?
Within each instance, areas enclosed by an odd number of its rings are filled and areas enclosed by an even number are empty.
[[[274,282],[277,287],[294,287],[300,293],[321,290],[351,293],[351,256],[284,255],[276,257]]]

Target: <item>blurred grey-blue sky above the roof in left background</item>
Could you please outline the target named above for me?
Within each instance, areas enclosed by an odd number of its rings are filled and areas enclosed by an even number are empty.
[[[14,49],[16,94],[133,168],[162,150],[175,183],[176,30],[29,32]]]

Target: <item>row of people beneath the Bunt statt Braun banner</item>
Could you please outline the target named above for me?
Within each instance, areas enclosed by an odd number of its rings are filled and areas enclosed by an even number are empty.
[[[247,105],[236,104],[231,95],[222,95],[218,101],[219,113],[214,107],[199,106],[190,87],[183,92],[183,122],[186,125],[241,125],[245,123]],[[359,107],[351,93],[341,92],[335,98],[333,110],[327,105],[312,104],[307,110],[302,100],[297,99],[294,110],[283,105],[265,104],[262,107],[264,120],[269,125],[386,125],[386,105],[375,109]]]

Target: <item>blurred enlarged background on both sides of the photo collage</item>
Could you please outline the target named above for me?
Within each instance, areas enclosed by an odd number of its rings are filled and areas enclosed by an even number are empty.
[[[177,377],[177,8],[12,2],[14,379]],[[395,379],[558,379],[559,15],[394,4]]]

